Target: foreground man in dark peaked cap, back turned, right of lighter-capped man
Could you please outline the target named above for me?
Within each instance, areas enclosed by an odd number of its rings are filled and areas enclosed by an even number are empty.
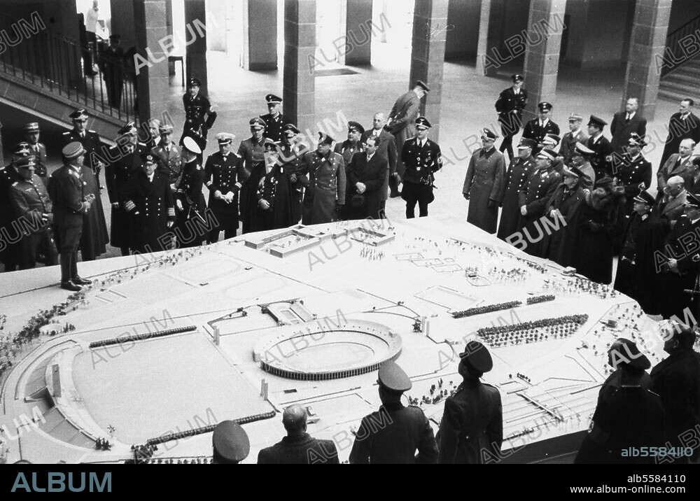
[[[459,354],[463,377],[456,393],[444,402],[437,432],[438,463],[484,464],[500,461],[503,443],[503,409],[500,392],[480,378],[493,367],[491,353],[479,341],[469,341]]]

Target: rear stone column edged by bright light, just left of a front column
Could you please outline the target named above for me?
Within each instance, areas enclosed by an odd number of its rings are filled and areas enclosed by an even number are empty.
[[[243,23],[244,68],[277,69],[277,1],[246,0]]]

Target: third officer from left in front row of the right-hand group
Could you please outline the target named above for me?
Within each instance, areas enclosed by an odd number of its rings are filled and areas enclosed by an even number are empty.
[[[543,230],[539,220],[545,213],[547,201],[561,183],[561,175],[554,170],[555,159],[556,152],[548,149],[540,151],[535,160],[537,170],[519,192],[520,228],[527,241],[523,250],[530,255],[542,257],[542,248],[538,245],[541,239],[538,240],[538,235]]]

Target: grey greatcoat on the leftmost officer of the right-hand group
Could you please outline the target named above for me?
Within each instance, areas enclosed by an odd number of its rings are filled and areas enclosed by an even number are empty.
[[[505,191],[505,160],[496,148],[479,148],[469,159],[462,193],[469,196],[467,223],[496,233],[498,206]]]

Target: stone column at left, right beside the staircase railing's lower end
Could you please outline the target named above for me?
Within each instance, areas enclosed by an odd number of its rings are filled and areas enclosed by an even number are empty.
[[[149,66],[140,66],[137,74],[141,122],[151,117],[160,119],[170,103],[167,54],[159,43],[168,34],[165,3],[166,0],[134,1],[134,27],[137,44],[141,48],[139,54],[150,63]],[[152,60],[146,54],[146,48],[151,50]]]

